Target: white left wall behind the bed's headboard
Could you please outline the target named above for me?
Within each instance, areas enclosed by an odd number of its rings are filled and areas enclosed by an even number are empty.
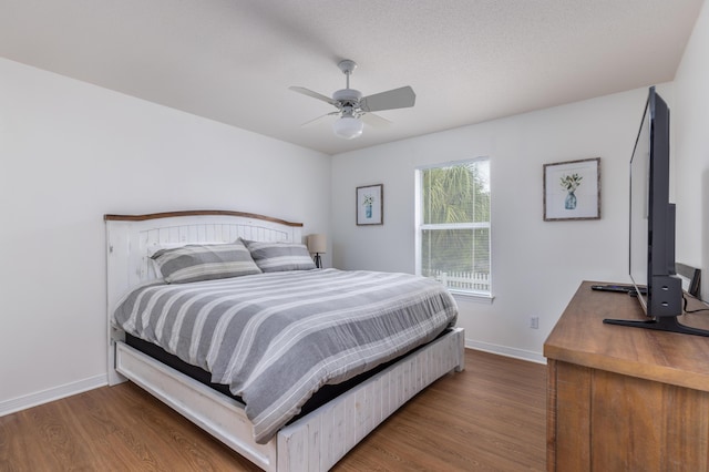
[[[327,155],[3,59],[0,103],[0,414],[105,381],[103,214],[329,227]]]

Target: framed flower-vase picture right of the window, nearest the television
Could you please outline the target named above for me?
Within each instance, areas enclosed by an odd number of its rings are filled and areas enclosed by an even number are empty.
[[[600,219],[600,157],[544,164],[544,220]]]

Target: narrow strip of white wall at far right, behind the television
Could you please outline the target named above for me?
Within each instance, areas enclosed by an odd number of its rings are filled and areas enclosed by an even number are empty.
[[[705,2],[675,78],[671,110],[677,259],[702,269],[709,300],[709,3]]]

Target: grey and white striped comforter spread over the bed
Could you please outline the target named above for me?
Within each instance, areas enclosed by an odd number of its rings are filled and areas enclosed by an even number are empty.
[[[144,285],[114,322],[228,384],[265,443],[321,386],[432,340],[456,314],[434,280],[325,269]]]

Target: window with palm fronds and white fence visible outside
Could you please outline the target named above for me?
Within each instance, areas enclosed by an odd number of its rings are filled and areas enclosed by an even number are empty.
[[[490,297],[490,160],[417,170],[417,274]]]

